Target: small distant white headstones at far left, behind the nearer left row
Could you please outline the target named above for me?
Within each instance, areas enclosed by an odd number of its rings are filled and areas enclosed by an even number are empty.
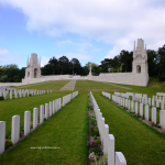
[[[3,96],[4,100],[7,100],[8,95],[10,96],[10,99],[13,99],[13,94],[14,98],[18,98],[18,95],[20,98],[22,97],[29,97],[30,94],[31,96],[36,96],[36,95],[44,95],[46,91],[45,90],[36,90],[36,89],[12,89],[12,88],[2,88],[0,89],[0,96]],[[52,92],[51,90],[47,90],[47,94]]]

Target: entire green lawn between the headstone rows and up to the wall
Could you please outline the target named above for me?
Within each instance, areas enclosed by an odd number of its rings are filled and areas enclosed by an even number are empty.
[[[23,122],[25,110],[32,111],[34,107],[38,108],[53,99],[73,92],[59,91],[67,82],[68,80],[58,80],[33,85],[24,89],[53,89],[55,92],[0,101],[0,121],[7,121],[7,132],[10,132],[12,116],[20,114],[21,122]],[[150,82],[152,84],[152,80]],[[0,164],[87,164],[88,151],[85,146],[85,134],[88,127],[86,113],[89,91],[92,91],[106,118],[106,123],[109,124],[109,133],[116,138],[116,151],[124,154],[129,165],[164,164],[165,136],[101,96],[102,91],[110,94],[114,91],[142,92],[147,94],[148,97],[156,95],[156,92],[165,92],[165,88],[157,88],[154,84],[153,81],[152,86],[138,87],[77,80],[75,91],[78,90],[79,96],[2,156]],[[61,148],[32,150],[30,148],[32,146]]]

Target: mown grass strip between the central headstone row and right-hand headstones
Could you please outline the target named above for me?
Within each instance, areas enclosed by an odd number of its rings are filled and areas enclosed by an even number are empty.
[[[116,151],[127,158],[128,165],[164,165],[165,136],[117,107],[100,94],[94,96],[116,138]]]

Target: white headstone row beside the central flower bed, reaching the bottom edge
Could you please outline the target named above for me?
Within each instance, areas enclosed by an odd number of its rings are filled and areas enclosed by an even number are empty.
[[[109,95],[108,95],[109,97]],[[96,113],[97,124],[99,129],[99,133],[101,136],[101,142],[103,142],[103,154],[108,155],[108,165],[127,165],[127,161],[124,155],[121,152],[114,153],[114,136],[113,134],[109,134],[109,125],[105,124],[105,118],[102,118],[102,113],[90,91],[90,98],[94,105],[94,110]],[[116,154],[116,155],[114,155]],[[116,157],[114,157],[116,156]]]

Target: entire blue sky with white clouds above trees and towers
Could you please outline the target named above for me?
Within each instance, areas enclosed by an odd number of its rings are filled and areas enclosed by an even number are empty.
[[[165,44],[165,0],[0,0],[0,65],[25,67],[36,53],[100,64],[122,50]]]

